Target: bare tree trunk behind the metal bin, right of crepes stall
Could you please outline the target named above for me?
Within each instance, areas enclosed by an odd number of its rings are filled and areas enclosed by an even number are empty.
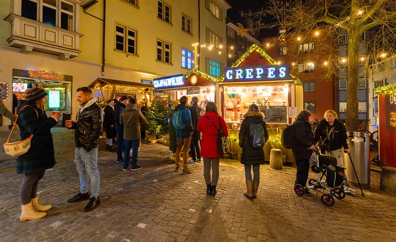
[[[359,107],[359,54],[360,34],[356,29],[349,32],[348,46],[348,80],[346,89],[346,131],[358,130],[358,107]]]

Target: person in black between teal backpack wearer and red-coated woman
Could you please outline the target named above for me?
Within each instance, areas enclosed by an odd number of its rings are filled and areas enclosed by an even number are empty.
[[[194,127],[194,131],[192,132],[191,135],[191,144],[190,144],[190,150],[191,150],[191,160],[188,160],[189,163],[196,163],[196,162],[201,162],[201,148],[200,148],[200,140],[201,140],[201,132],[196,130],[196,125],[198,124],[198,120],[200,119],[200,112],[203,111],[203,109],[198,105],[198,98],[196,96],[193,96],[191,99],[191,107],[189,108],[190,113],[191,113],[191,123],[192,126]],[[195,156],[195,151],[196,151],[196,156]]]

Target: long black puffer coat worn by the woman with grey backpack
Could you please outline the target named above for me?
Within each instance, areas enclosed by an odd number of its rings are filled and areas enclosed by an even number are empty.
[[[264,128],[265,141],[267,141],[269,136],[266,123],[264,122],[264,114],[262,112],[246,112],[243,118],[239,131],[239,147],[242,148],[240,163],[243,165],[263,165],[264,150],[252,146],[252,137],[250,136],[251,123],[249,121],[252,123],[261,123],[261,126]]]

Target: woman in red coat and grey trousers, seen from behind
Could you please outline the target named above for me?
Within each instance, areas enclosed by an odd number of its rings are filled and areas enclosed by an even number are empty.
[[[218,132],[216,128],[223,130],[225,136],[228,136],[227,124],[223,117],[219,116],[216,104],[209,102],[206,105],[205,116],[201,117],[196,125],[196,130],[202,132],[201,157],[204,158],[204,176],[208,195],[216,194],[217,181],[219,180],[220,153],[217,149]],[[211,166],[212,181],[210,175]]]

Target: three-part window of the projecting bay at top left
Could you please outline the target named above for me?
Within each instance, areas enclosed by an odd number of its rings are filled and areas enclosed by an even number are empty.
[[[60,5],[58,5],[60,3]],[[41,6],[39,9],[38,6]],[[60,13],[60,16],[58,15]],[[59,0],[22,0],[21,16],[42,23],[74,31],[75,5]]]

